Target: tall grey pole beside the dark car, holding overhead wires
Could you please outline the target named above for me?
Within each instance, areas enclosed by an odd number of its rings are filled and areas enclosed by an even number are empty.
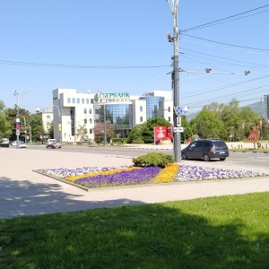
[[[178,116],[175,114],[175,108],[179,106],[179,69],[178,69],[178,2],[179,0],[167,0],[174,17],[174,37],[168,32],[169,42],[174,43],[173,56],[173,152],[175,162],[181,161],[181,135],[178,130]]]

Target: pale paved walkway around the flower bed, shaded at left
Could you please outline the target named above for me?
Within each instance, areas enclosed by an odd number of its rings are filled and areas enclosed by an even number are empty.
[[[152,147],[155,147],[152,145]],[[122,204],[151,204],[216,195],[269,191],[269,178],[201,181],[134,187],[108,187],[88,192],[34,169],[120,166],[132,157],[105,156],[61,150],[0,148],[0,219],[80,211]],[[222,162],[224,163],[224,162]],[[188,164],[191,164],[188,161]],[[199,162],[199,165],[213,163]],[[195,163],[197,165],[197,163]],[[239,169],[231,168],[230,169]]]

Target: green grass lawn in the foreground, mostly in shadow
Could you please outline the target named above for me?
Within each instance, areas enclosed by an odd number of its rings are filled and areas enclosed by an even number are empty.
[[[0,220],[0,268],[268,268],[269,192]]]

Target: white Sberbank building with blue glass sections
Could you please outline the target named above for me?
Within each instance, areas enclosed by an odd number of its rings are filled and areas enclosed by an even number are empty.
[[[79,129],[94,140],[93,127],[104,121],[113,125],[115,137],[127,137],[134,125],[152,117],[162,117],[172,125],[171,91],[153,91],[143,96],[127,92],[77,92],[58,88],[53,91],[54,136],[63,143],[81,141]]]

